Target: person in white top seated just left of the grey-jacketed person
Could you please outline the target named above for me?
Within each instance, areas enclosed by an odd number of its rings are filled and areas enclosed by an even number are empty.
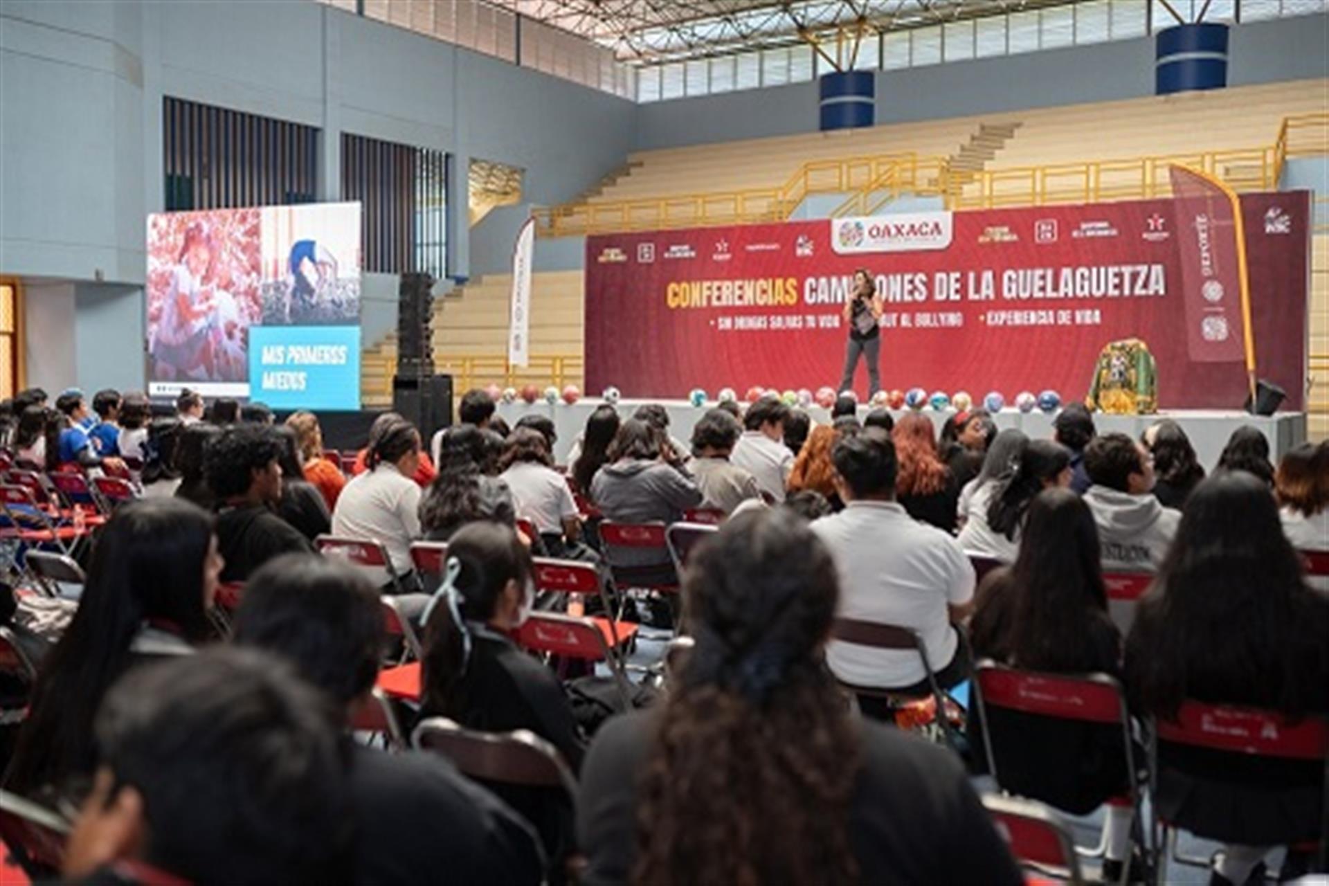
[[[518,422],[498,461],[498,478],[508,484],[517,514],[534,525],[550,555],[566,557],[581,535],[581,518],[567,481],[553,465],[544,434]]]

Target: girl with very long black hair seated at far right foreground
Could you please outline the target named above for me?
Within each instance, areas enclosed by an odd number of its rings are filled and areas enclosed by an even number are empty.
[[[1247,472],[1216,472],[1191,493],[1140,600],[1126,640],[1126,685],[1132,707],[1159,719],[1187,699],[1324,715],[1326,636],[1329,596],[1306,586],[1268,487]],[[1229,840],[1216,857],[1211,883],[1261,882],[1261,858],[1275,843],[1324,837],[1322,778],[1320,761],[1164,745],[1154,808],[1200,834],[1241,834],[1243,845]],[[1282,874],[1292,879],[1304,861],[1293,858]]]

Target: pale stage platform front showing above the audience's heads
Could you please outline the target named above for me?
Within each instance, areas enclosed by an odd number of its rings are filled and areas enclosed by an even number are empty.
[[[670,414],[670,433],[687,442],[692,436],[692,425],[707,409],[714,406],[714,402],[706,406],[694,406],[686,400],[621,400],[618,402],[618,413],[623,417],[629,417],[635,412],[638,406],[645,402],[659,402],[662,404]],[[567,450],[571,448],[573,441],[586,426],[586,417],[590,416],[595,406],[601,405],[599,400],[583,399],[573,405],[567,405],[562,401],[557,404],[548,404],[544,400],[533,404],[517,401],[517,402],[501,402],[498,404],[498,414],[504,417],[508,424],[516,424],[518,418],[528,413],[536,413],[541,416],[549,416],[554,420],[554,428],[558,432],[558,442],[554,445],[554,458],[558,464],[565,464],[567,458]],[[859,406],[859,417],[868,414],[868,406]],[[896,418],[905,414],[908,410],[893,410]],[[809,406],[808,414],[816,422],[825,422],[831,420],[831,413],[820,406]],[[940,429],[949,416],[954,414],[953,409],[936,410],[924,409],[922,414],[936,422]],[[1046,438],[1053,436],[1053,420],[1057,413],[1045,412],[1019,412],[1018,409],[1003,409],[997,416],[998,428],[1019,428],[1026,434],[1034,438]],[[1241,425],[1255,425],[1264,436],[1269,440],[1269,450],[1275,462],[1285,453],[1300,442],[1306,440],[1306,416],[1301,412],[1280,412],[1273,416],[1251,416],[1240,410],[1221,412],[1221,410],[1187,410],[1179,409],[1172,412],[1160,412],[1154,416],[1107,416],[1095,414],[1094,424],[1099,433],[1107,433],[1111,430],[1119,430],[1122,433],[1130,434],[1138,438],[1140,433],[1148,428],[1151,424],[1159,418],[1172,418],[1180,424],[1187,436],[1191,437],[1191,444],[1195,446],[1195,452],[1200,458],[1200,464],[1204,465],[1205,470],[1211,470],[1219,461],[1219,454],[1223,452],[1223,446],[1227,444],[1228,437],[1233,430]]]

